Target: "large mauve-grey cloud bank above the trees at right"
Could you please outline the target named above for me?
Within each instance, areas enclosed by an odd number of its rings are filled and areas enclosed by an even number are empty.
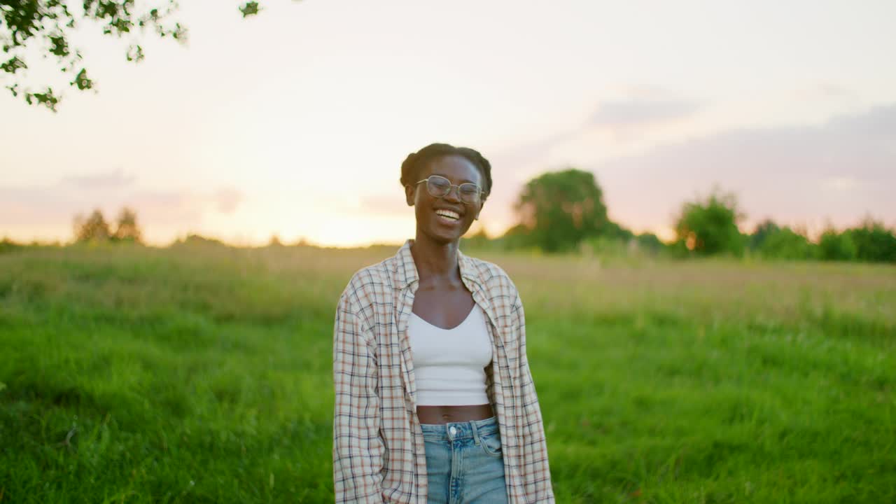
[[[592,168],[613,216],[638,226],[671,222],[682,202],[714,185],[737,194],[750,222],[845,226],[870,213],[893,223],[893,138],[896,105],[823,126],[731,130]]]

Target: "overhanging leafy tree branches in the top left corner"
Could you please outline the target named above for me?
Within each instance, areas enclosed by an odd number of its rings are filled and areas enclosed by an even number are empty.
[[[70,9],[70,4],[75,5]],[[94,82],[82,63],[81,50],[69,44],[69,36],[82,21],[99,22],[106,35],[130,38],[125,57],[135,63],[144,56],[139,42],[145,30],[152,30],[160,38],[170,37],[184,43],[186,28],[170,21],[177,10],[176,0],[143,0],[139,4],[137,0],[0,0],[0,43],[4,52],[0,70],[12,82],[6,89],[13,97],[22,95],[29,105],[43,105],[56,111],[62,95],[51,85],[41,85],[39,90],[22,85],[29,68],[29,49],[32,54],[37,51],[56,60],[62,73],[72,77],[70,86],[80,91],[93,89]],[[246,2],[239,7],[244,18],[259,10],[258,2]]]

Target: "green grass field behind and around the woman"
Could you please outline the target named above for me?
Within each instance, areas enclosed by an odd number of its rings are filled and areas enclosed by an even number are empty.
[[[0,255],[0,502],[332,501],[332,321],[395,248]],[[896,267],[476,254],[559,502],[896,502]]]

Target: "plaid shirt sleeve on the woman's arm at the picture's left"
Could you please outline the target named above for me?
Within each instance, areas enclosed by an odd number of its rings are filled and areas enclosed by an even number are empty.
[[[333,491],[336,502],[383,503],[383,439],[375,338],[343,293],[333,327]]]

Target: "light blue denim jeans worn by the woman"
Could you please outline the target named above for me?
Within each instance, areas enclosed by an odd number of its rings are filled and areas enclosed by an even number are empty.
[[[421,424],[428,504],[505,504],[504,454],[495,418]]]

